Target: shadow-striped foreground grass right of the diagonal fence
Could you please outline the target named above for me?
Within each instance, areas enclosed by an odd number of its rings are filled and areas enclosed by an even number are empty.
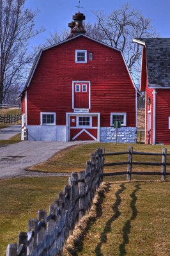
[[[169,191],[170,182],[107,182],[65,256],[170,255]]]

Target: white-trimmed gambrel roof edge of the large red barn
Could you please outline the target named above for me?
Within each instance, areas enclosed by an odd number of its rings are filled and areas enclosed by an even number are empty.
[[[24,90],[22,91],[22,93],[24,93],[24,92],[26,91],[27,87],[29,87],[29,84],[31,83],[31,79],[32,79],[33,74],[34,74],[34,72],[35,72],[35,70],[36,70],[36,66],[38,65],[38,61],[40,60],[40,57],[41,57],[41,55],[42,55],[42,52],[43,52],[43,51],[46,51],[46,50],[48,50],[48,49],[51,49],[52,47],[56,47],[57,45],[64,44],[64,43],[66,43],[66,42],[68,42],[68,41],[70,41],[70,40],[74,40],[75,38],[78,38],[79,36],[84,36],[84,37],[86,37],[86,38],[89,38],[90,40],[93,40],[93,41],[95,41],[95,42],[98,42],[99,44],[102,44],[102,45],[105,45],[105,46],[107,46],[107,47],[110,47],[111,49],[114,49],[114,50],[116,50],[116,51],[120,51],[120,52],[121,52],[121,56],[123,57],[123,60],[124,60],[125,65],[126,65],[126,67],[127,67],[127,63],[126,63],[126,61],[125,61],[125,57],[123,56],[123,52],[122,52],[120,49],[117,49],[117,48],[115,48],[115,47],[112,47],[111,45],[105,44],[104,42],[100,42],[100,41],[98,41],[97,39],[92,38],[91,36],[87,36],[87,35],[84,35],[84,34],[80,34],[80,35],[77,35],[77,36],[73,36],[72,38],[68,38],[68,39],[66,39],[66,40],[63,40],[63,41],[59,42],[58,44],[54,44],[54,45],[50,45],[49,47],[45,47],[45,48],[43,48],[43,49],[38,53],[38,55],[37,55],[36,58],[35,58],[35,61],[33,62],[33,66],[32,66],[32,68],[31,68],[31,70],[30,70],[30,72],[29,72],[29,76],[27,77],[26,85],[24,86]],[[128,67],[127,67],[127,71],[128,71],[129,76],[130,76],[130,79],[132,80],[132,84],[134,85],[135,90],[138,92],[138,89],[137,89],[137,87],[135,86],[134,81],[133,81],[133,79],[132,79],[132,76],[131,76],[131,74],[130,74],[130,72],[129,72],[129,70],[128,70]],[[20,94],[21,96],[22,96],[22,93]]]

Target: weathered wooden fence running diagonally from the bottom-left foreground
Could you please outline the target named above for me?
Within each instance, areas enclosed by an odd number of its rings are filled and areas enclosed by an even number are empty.
[[[72,173],[64,191],[50,205],[49,215],[38,211],[38,219],[28,221],[28,232],[20,232],[18,244],[8,244],[6,255],[62,255],[70,232],[91,207],[103,168],[104,149],[98,149],[86,163],[86,172]]]

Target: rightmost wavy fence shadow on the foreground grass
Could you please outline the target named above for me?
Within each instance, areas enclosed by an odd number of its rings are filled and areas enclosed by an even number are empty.
[[[137,217],[137,208],[135,207],[137,196],[137,191],[141,189],[140,185],[135,185],[135,190],[132,192],[130,197],[132,198],[130,202],[130,208],[132,209],[132,216],[129,220],[126,221],[124,227],[122,228],[123,231],[123,242],[120,244],[120,256],[124,256],[127,254],[125,246],[129,243],[128,235],[130,234],[131,229],[131,221],[135,220]]]

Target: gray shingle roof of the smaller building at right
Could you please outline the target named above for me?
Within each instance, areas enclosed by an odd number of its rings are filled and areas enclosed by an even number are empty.
[[[137,41],[146,46],[149,87],[170,87],[170,38],[135,38]]]

